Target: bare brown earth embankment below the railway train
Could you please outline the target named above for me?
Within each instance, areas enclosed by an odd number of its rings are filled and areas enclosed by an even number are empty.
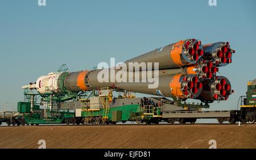
[[[256,125],[0,127],[0,148],[256,148]]]

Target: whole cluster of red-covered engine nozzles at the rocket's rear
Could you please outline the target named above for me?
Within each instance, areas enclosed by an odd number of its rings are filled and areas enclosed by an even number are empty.
[[[231,85],[227,78],[217,77],[220,66],[232,62],[232,54],[235,53],[229,42],[217,42],[203,45],[195,39],[187,40],[183,44],[185,55],[195,64],[185,66],[186,74],[192,77],[184,77],[181,91],[186,98],[197,96],[202,102],[210,103],[214,100],[227,100],[232,94]],[[196,75],[196,76],[195,76]],[[203,83],[202,83],[203,82]]]

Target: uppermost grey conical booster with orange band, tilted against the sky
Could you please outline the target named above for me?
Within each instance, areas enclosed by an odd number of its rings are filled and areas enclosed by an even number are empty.
[[[161,47],[151,52],[142,54],[141,56],[131,58],[125,61],[129,66],[129,62],[144,63],[159,63],[159,69],[177,68],[196,62],[203,56],[204,50],[200,40],[187,39],[180,40],[177,43],[172,43]]]

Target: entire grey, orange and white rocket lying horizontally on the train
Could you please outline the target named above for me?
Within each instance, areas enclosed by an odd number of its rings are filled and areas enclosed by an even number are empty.
[[[110,87],[113,90],[125,90],[140,92],[142,94],[166,96],[180,100],[199,99],[204,103],[212,103],[214,100],[228,100],[232,94],[228,78],[218,76],[220,67],[232,62],[232,54],[235,53],[229,42],[217,42],[201,44],[200,40],[187,39],[166,45],[151,52],[142,54],[125,61],[123,64],[144,62],[148,64],[158,63],[159,84],[156,88],[148,88],[150,82],[143,81],[144,70],[118,68],[114,70],[127,73],[126,82],[108,81],[99,82],[98,74],[104,69],[82,70],[77,72],[49,73],[39,77],[35,83],[23,86],[37,90],[41,95],[51,90],[54,94],[67,92],[81,92],[98,90],[101,87]],[[111,73],[111,68],[105,69]],[[139,75],[139,82],[129,82],[135,75]],[[109,75],[109,80],[111,79]]]

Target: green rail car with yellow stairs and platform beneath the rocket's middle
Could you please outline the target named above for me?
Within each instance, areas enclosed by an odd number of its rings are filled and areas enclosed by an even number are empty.
[[[82,102],[82,124],[115,124],[119,121],[136,121],[139,123],[159,123],[161,108],[152,105],[129,104],[118,107],[109,107],[112,102],[112,90],[102,88],[99,91],[100,103],[92,99],[80,99]]]

